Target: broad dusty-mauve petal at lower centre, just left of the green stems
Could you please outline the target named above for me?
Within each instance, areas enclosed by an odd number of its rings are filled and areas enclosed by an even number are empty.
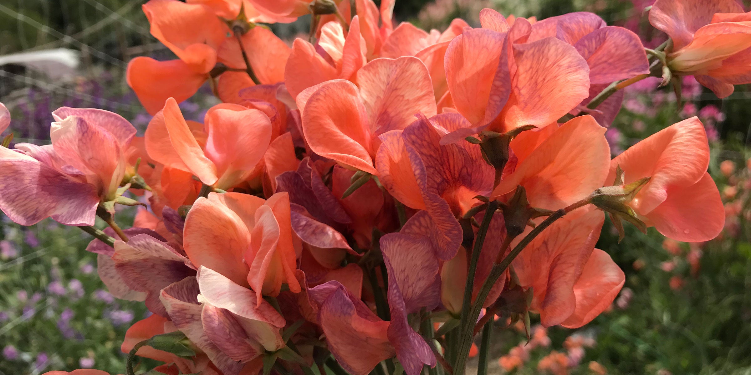
[[[433,311],[441,299],[441,278],[439,260],[430,239],[388,233],[381,237],[381,251],[388,269],[389,287],[392,282],[399,286],[405,314],[421,308]]]

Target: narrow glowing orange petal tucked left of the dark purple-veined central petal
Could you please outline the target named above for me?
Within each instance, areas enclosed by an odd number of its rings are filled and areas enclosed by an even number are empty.
[[[378,169],[381,184],[399,202],[411,208],[424,209],[421,187],[412,169],[402,130],[391,130],[379,138],[382,143],[375,155],[375,168]]]

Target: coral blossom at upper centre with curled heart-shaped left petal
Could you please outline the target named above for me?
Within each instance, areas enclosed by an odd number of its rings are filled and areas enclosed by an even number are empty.
[[[375,173],[378,136],[403,129],[416,113],[434,115],[425,65],[414,57],[378,58],[357,72],[357,86],[331,80],[297,96],[311,150],[350,169]]]

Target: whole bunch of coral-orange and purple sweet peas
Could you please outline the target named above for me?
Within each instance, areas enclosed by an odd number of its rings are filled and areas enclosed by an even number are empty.
[[[144,136],[62,107],[51,145],[0,148],[0,208],[96,237],[110,293],[152,312],[125,336],[128,374],[141,356],[164,374],[461,375],[494,315],[576,328],[611,305],[624,275],[595,248],[605,213],[621,236],[623,220],[682,242],[722,231],[698,118],[612,160],[601,126],[650,75],[742,83],[725,65],[743,43],[723,30],[745,14],[689,14],[701,4],[658,0],[672,44],[647,58],[593,13],[483,9],[481,27],[424,31],[394,26],[393,1],[150,0],[178,58],[128,65],[154,115]],[[260,24],[303,13],[310,41],[291,47]],[[186,120],[179,103],[207,81],[223,103]],[[122,229],[116,205],[147,208]]]

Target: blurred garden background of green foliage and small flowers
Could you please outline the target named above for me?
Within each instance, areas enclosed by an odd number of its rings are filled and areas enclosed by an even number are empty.
[[[643,10],[650,2],[397,0],[394,14],[422,28],[442,29],[455,17],[477,25],[484,7],[538,19],[587,10],[655,46],[664,36],[647,22]],[[0,101],[11,109],[18,141],[46,142],[50,112],[62,106],[111,110],[146,127],[150,117],[125,85],[125,66],[136,55],[172,55],[149,35],[140,4],[0,2]],[[308,22],[303,18],[273,30],[292,40]],[[19,52],[56,48],[80,53],[80,65],[52,74],[8,63],[9,55],[13,61]],[[628,89],[623,110],[606,133],[614,154],[699,115],[711,139],[710,173],[726,202],[725,232],[711,242],[683,244],[653,229],[644,235],[631,228],[619,244],[606,223],[598,247],[626,272],[626,285],[611,309],[578,330],[535,326],[529,342],[518,326],[503,329],[505,322],[496,322],[493,374],[751,374],[749,99],[748,89],[737,86],[719,100],[691,78],[683,82],[681,107],[671,89],[656,89],[655,80]],[[180,107],[186,118],[201,121],[215,102],[206,88]],[[119,345],[146,309],[107,293],[95,254],[84,251],[88,241],[77,228],[52,220],[21,227],[0,214],[0,375],[92,367],[124,371]]]

